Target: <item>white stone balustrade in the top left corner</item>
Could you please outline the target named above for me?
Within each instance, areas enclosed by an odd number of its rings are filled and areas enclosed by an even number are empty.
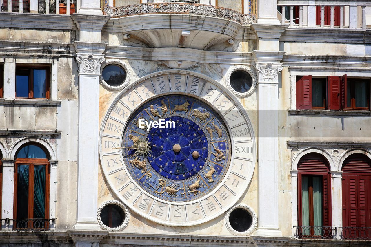
[[[76,13],[76,0],[0,0],[0,6],[1,12],[68,15]]]

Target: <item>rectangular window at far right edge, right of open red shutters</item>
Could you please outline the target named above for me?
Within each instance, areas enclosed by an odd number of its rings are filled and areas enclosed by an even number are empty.
[[[347,80],[347,108],[349,110],[370,109],[370,80]]]

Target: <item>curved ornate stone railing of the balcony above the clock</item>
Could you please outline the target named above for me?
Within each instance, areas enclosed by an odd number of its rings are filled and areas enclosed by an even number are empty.
[[[234,20],[241,24],[256,22],[253,14],[242,14],[232,9],[198,3],[145,3],[122,7],[105,6],[103,14],[112,17],[132,16],[138,14],[200,14]]]

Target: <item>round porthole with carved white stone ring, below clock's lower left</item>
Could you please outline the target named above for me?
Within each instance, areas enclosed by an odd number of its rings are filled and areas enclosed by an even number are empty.
[[[106,230],[122,230],[129,222],[129,211],[119,201],[106,201],[99,207],[98,222]]]

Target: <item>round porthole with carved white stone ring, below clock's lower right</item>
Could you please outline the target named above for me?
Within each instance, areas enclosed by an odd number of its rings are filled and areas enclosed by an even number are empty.
[[[226,214],[228,230],[234,235],[247,236],[253,233],[257,225],[255,211],[246,204],[237,204]]]

